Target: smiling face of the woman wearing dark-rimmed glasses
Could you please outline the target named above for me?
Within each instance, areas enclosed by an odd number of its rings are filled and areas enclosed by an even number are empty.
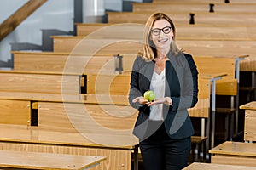
[[[171,24],[164,19],[156,20],[151,29],[151,40],[157,49],[170,49],[173,31]]]

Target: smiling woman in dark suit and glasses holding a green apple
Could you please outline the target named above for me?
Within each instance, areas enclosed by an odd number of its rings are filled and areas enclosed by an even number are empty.
[[[182,169],[189,159],[194,129],[187,109],[198,100],[198,71],[192,56],[177,48],[175,34],[166,14],[152,14],[131,71],[129,102],[139,110],[133,133],[144,170]],[[144,99],[148,90],[154,101]]]

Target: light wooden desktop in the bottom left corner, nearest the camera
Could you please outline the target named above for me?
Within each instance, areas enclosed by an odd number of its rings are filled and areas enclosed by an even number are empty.
[[[106,157],[0,150],[0,167],[15,169],[88,169],[103,160]]]

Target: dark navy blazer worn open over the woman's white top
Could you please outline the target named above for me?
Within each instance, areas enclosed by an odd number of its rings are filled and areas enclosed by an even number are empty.
[[[169,60],[166,60],[165,96],[171,97],[172,105],[164,105],[164,123],[166,132],[172,139],[183,139],[194,134],[187,109],[194,107],[198,101],[198,71],[189,54],[168,54],[167,57]],[[143,96],[144,92],[149,90],[154,65],[154,61],[145,61],[138,56],[131,71],[129,102],[132,107],[139,110],[133,133],[140,140],[147,139],[162,123],[154,127],[148,126],[148,105],[132,103],[132,99]]]

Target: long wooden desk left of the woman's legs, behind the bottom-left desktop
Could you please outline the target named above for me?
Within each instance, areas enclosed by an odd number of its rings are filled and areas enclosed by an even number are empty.
[[[133,150],[134,166],[137,165],[138,142],[137,138],[132,134],[104,134],[94,132],[91,128],[88,129],[88,131],[90,130],[91,133],[83,136],[83,133],[55,132],[41,130],[39,127],[0,124],[0,148],[13,151],[106,157],[107,161],[103,161],[98,165],[96,170],[131,170],[131,151]],[[105,144],[96,143],[96,140],[101,140]],[[134,169],[138,168],[134,167]]]

